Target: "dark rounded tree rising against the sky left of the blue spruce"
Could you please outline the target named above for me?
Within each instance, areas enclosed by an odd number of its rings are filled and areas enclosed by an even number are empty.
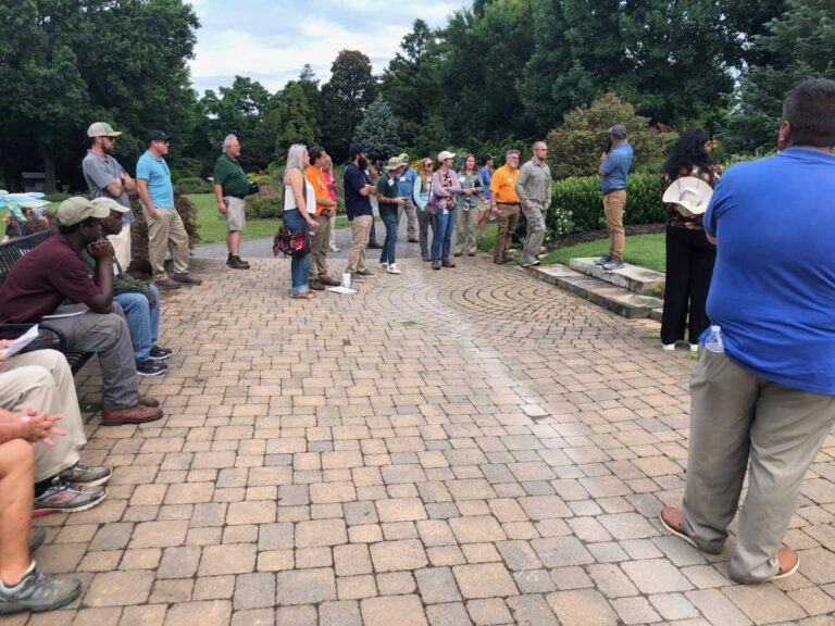
[[[358,50],[342,50],[322,86],[322,142],[336,162],[348,155],[353,130],[377,96],[371,60]]]

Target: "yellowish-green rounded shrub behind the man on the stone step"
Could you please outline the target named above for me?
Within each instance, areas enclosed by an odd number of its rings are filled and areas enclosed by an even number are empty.
[[[664,140],[649,126],[649,120],[635,114],[635,108],[615,93],[606,93],[590,107],[578,107],[565,122],[548,133],[548,164],[554,178],[588,176],[597,172],[600,153],[609,142],[607,130],[624,124],[635,151],[635,165],[659,165]]]

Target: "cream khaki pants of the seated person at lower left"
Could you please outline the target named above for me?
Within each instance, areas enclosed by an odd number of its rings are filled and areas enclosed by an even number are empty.
[[[55,426],[64,437],[52,436],[54,446],[35,445],[35,481],[46,480],[78,462],[77,449],[87,442],[75,395],[73,373],[61,352],[36,350],[15,354],[0,366],[0,408],[17,413],[24,406],[61,414]]]

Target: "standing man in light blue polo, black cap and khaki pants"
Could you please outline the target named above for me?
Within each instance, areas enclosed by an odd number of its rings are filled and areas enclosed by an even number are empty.
[[[174,208],[174,186],[165,163],[171,136],[151,130],[145,138],[148,150],[136,163],[136,187],[142,201],[148,223],[148,260],[153,270],[153,281],[160,289],[176,289],[180,283],[200,285],[202,280],[188,275],[188,233]],[[174,245],[173,280],[165,273],[165,252],[169,241]]]

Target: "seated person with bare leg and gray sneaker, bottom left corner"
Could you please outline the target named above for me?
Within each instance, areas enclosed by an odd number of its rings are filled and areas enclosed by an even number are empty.
[[[43,574],[29,555],[32,445],[57,434],[51,433],[53,417],[0,414],[0,614],[59,609],[82,592],[78,580]],[[42,541],[42,534],[38,540]]]

